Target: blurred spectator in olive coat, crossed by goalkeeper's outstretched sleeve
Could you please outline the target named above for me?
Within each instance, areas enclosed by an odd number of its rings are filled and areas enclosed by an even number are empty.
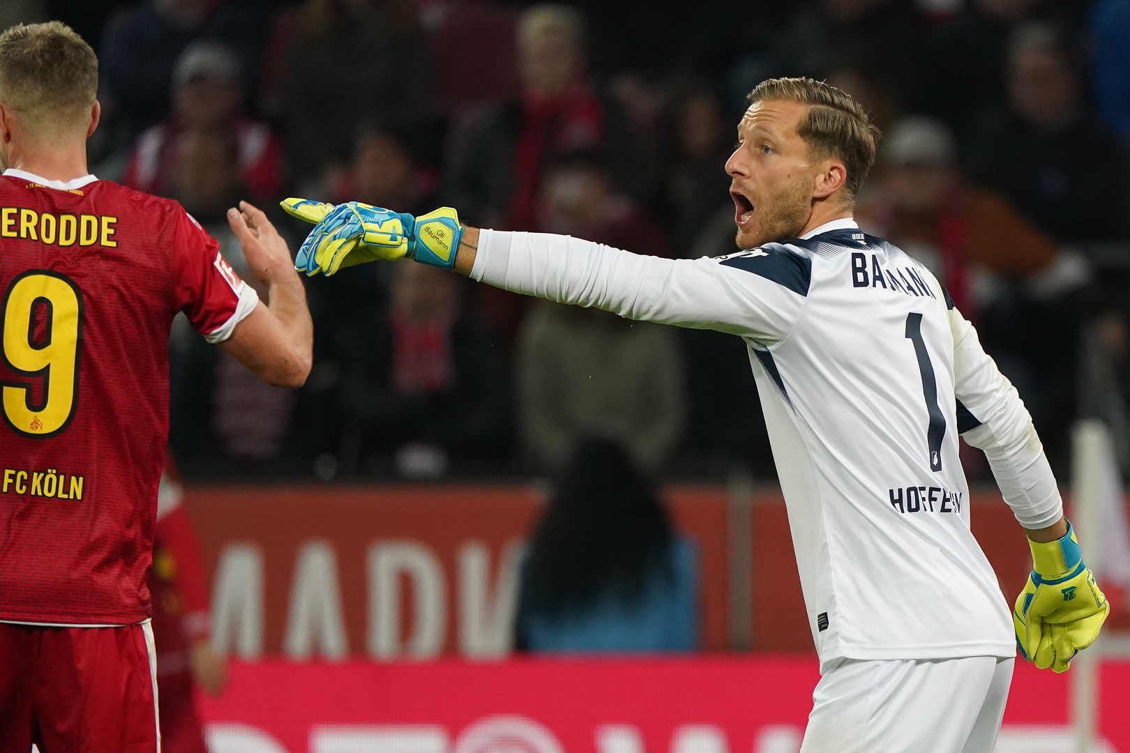
[[[599,159],[574,155],[548,168],[539,229],[670,256],[670,246],[623,195]],[[525,455],[556,473],[577,439],[615,436],[655,471],[685,422],[683,357],[677,335],[594,308],[534,301],[515,352],[519,429]]]

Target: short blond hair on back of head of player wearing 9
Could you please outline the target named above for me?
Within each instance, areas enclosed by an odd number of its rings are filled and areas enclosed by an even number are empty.
[[[98,96],[98,58],[60,21],[0,34],[0,102],[51,129],[76,126]]]

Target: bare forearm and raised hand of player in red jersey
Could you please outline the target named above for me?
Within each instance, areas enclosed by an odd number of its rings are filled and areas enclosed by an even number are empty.
[[[240,202],[240,210],[228,210],[227,221],[251,272],[267,286],[270,305],[260,301],[219,347],[263,382],[301,387],[310,374],[314,348],[306,290],[286,240],[267,216],[245,201]]]

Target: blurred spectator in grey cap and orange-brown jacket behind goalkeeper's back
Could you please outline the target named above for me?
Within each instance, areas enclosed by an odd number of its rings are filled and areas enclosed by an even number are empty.
[[[1016,385],[1049,458],[1068,461],[1075,415],[1078,314],[1071,294],[1089,281],[1088,265],[1027,221],[1002,196],[971,185],[957,142],[940,121],[897,122],[880,152],[879,187],[860,208],[860,224],[924,264],[979,332]],[[1059,356],[1048,357],[1048,348]]]

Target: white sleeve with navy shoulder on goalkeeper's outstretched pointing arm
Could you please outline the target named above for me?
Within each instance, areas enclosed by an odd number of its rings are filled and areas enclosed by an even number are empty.
[[[805,307],[806,264],[776,248],[670,260],[568,236],[483,230],[471,277],[539,298],[719,330],[772,347],[792,331]]]

